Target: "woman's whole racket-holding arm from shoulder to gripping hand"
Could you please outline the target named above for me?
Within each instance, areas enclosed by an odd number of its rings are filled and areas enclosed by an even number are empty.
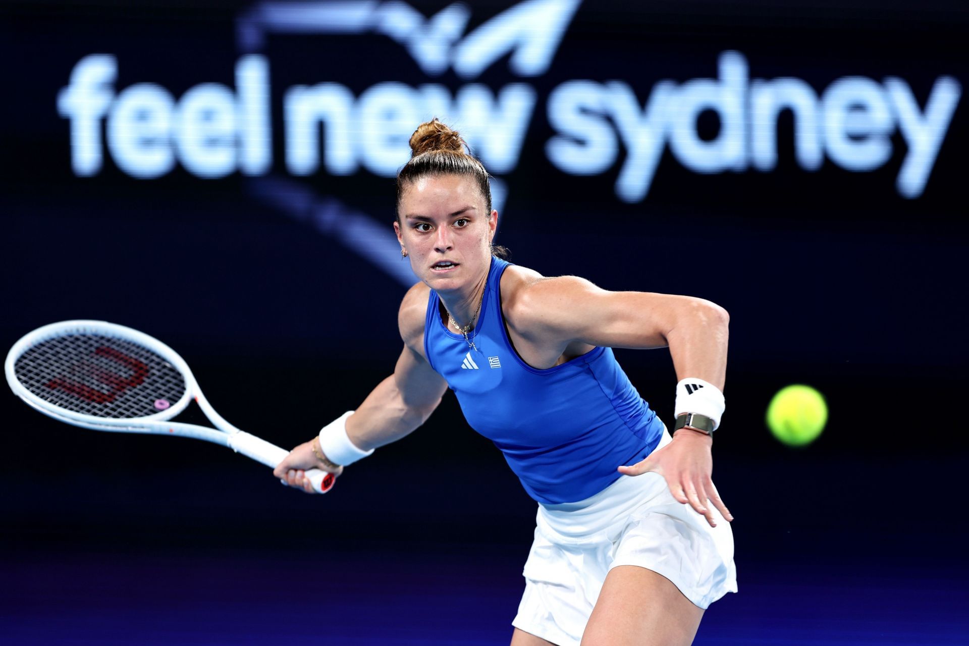
[[[375,387],[358,409],[341,418],[340,433],[353,452],[368,453],[411,433],[434,412],[448,385],[423,356],[423,321],[427,288],[416,285],[404,297],[399,313],[404,349],[397,358],[393,374]],[[330,431],[334,429],[329,429]],[[319,439],[303,443],[286,456],[273,471],[275,477],[306,493],[315,493],[307,469],[317,468],[339,476],[340,460],[331,460]]]

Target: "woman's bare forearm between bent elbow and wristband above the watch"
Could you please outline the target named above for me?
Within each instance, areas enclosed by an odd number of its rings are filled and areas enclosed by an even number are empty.
[[[727,379],[727,310],[701,298],[692,299],[667,333],[676,379],[696,377],[721,390]]]

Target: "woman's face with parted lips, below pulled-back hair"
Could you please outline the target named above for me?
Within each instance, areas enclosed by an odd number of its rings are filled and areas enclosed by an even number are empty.
[[[458,290],[487,272],[498,212],[485,208],[478,185],[462,175],[422,177],[404,193],[393,229],[431,289]]]

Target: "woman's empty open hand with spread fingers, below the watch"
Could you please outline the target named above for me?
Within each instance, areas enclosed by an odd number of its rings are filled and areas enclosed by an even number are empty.
[[[639,476],[652,472],[665,477],[670,493],[677,502],[694,508],[706,517],[710,527],[716,527],[711,504],[727,520],[734,520],[734,516],[713,486],[712,444],[712,438],[705,433],[681,428],[673,433],[670,444],[654,450],[644,460],[630,467],[619,467],[619,473]]]

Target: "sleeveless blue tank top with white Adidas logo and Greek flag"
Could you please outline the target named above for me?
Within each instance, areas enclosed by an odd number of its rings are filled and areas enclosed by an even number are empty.
[[[431,290],[424,354],[451,386],[473,429],[501,449],[525,491],[547,505],[575,503],[622,477],[650,453],[663,422],[642,400],[610,348],[595,348],[539,370],[518,356],[501,312],[501,275],[491,259],[478,323],[477,351],[441,320]]]

